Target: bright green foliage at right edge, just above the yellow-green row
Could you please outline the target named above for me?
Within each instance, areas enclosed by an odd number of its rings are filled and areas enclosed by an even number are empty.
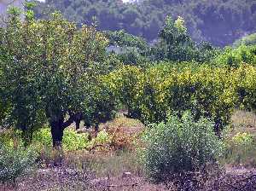
[[[213,63],[217,65],[227,65],[230,67],[239,67],[242,63],[256,64],[256,46],[241,45],[232,49],[226,47],[224,52],[217,56]]]

